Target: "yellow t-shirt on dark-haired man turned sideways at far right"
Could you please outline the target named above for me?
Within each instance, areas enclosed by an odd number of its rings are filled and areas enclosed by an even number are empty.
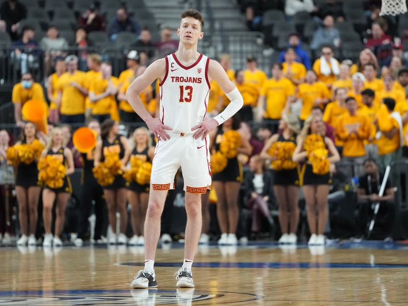
[[[379,155],[386,155],[396,151],[400,147],[400,140],[399,140],[399,124],[397,120],[392,118],[389,114],[388,116],[378,117],[379,131],[389,132],[394,127],[397,129],[397,133],[395,133],[393,138],[389,139],[384,135],[384,133],[382,133],[381,138],[378,139],[377,146]]]

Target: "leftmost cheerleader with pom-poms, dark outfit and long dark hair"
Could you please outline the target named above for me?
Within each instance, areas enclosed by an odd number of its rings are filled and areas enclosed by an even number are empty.
[[[34,123],[27,122],[23,127],[20,141],[16,144],[29,144],[37,138],[37,129]],[[27,165],[20,163],[17,166],[16,194],[18,202],[18,221],[22,235],[17,245],[36,245],[35,231],[38,219],[38,200],[41,187],[38,185],[37,160]],[[30,228],[28,223],[30,222]]]

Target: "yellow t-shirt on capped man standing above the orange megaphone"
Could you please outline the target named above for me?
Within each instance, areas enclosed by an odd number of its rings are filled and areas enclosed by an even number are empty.
[[[85,113],[85,95],[73,87],[71,82],[77,82],[80,86],[86,86],[85,72],[75,71],[73,74],[65,72],[57,82],[56,90],[62,91],[61,109],[63,115],[79,115]]]

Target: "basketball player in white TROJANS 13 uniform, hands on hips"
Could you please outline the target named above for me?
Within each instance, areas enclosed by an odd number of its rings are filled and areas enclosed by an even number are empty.
[[[181,15],[179,49],[147,67],[127,89],[126,97],[135,112],[158,139],[151,170],[150,195],[144,227],[145,264],[132,288],[157,287],[154,270],[160,236],[160,218],[174,175],[182,168],[186,191],[186,244],[183,266],[177,272],[177,287],[194,287],[191,266],[201,233],[201,194],[211,187],[208,133],[232,117],[243,105],[243,98],[228,79],[222,66],[197,52],[202,39],[203,19],[196,10]],[[160,79],[160,118],[145,110],[139,94]],[[231,100],[214,119],[206,118],[210,82],[215,80]]]

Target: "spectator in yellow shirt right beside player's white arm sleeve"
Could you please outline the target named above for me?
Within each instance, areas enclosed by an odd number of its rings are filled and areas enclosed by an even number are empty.
[[[237,70],[235,84],[244,99],[244,106],[238,111],[238,114],[242,121],[252,121],[252,109],[257,106],[259,91],[255,85],[245,82],[244,70]]]

